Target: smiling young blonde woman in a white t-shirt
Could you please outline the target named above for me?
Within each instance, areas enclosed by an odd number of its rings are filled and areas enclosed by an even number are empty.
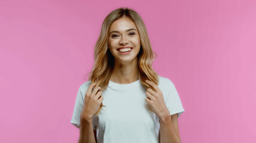
[[[107,15],[71,119],[79,142],[181,142],[184,109],[171,80],[152,69],[153,53],[138,13],[118,8]]]

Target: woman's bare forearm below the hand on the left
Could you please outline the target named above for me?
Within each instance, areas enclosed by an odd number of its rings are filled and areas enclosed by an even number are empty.
[[[96,143],[94,130],[92,129],[92,119],[84,120],[80,125],[79,143]]]

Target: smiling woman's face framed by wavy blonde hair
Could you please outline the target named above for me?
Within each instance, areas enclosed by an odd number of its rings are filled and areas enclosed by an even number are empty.
[[[110,26],[109,49],[115,57],[115,62],[127,64],[137,63],[137,55],[140,51],[140,36],[138,30],[127,17],[116,20]]]

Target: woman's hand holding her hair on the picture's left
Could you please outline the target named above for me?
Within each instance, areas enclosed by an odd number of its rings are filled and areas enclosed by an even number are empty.
[[[95,85],[96,83],[92,82],[85,93],[85,104],[83,104],[80,122],[92,120],[104,99],[101,96],[101,87]],[[94,88],[94,91],[92,91],[92,88]]]

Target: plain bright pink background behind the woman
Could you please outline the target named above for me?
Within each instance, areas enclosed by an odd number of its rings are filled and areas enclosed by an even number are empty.
[[[107,6],[107,7],[106,7]],[[77,142],[70,123],[101,24],[143,18],[173,81],[182,142],[255,142],[255,1],[0,1],[0,142]]]

